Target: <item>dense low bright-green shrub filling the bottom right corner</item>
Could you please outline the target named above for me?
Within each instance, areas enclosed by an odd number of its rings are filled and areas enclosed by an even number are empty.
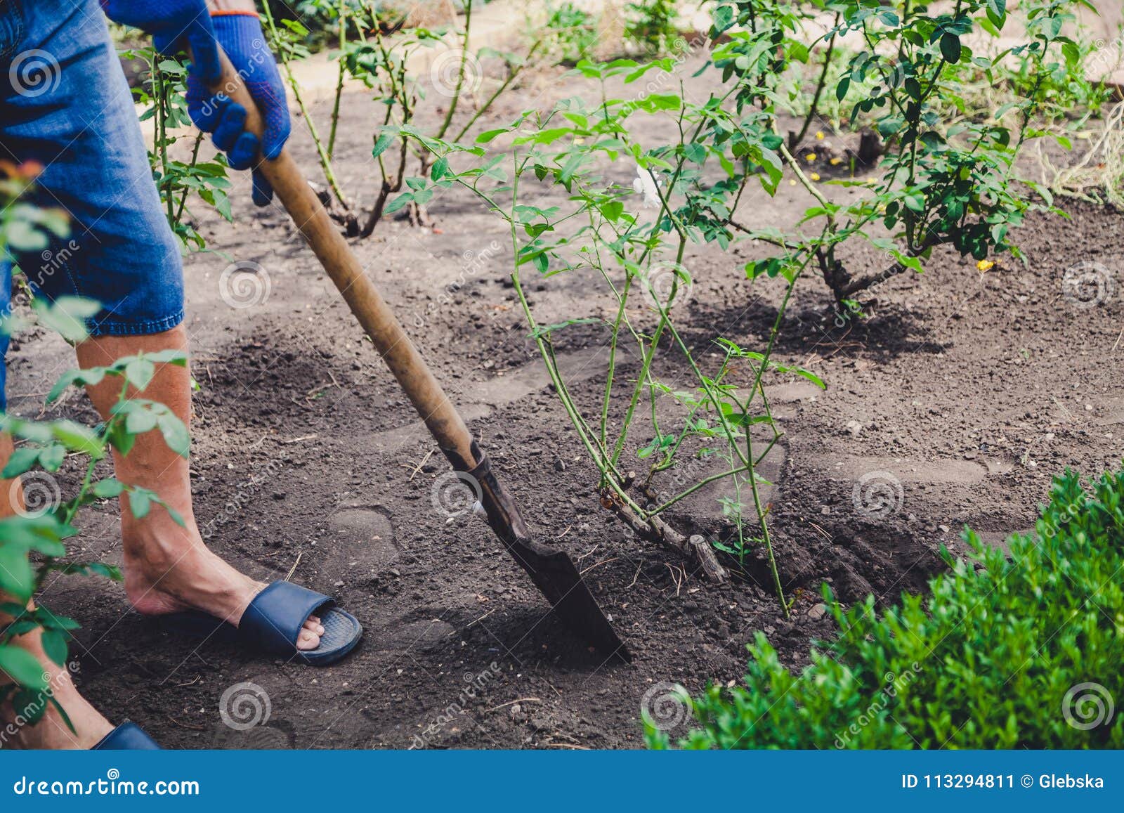
[[[970,557],[880,618],[825,589],[842,632],[799,675],[759,633],[746,688],[709,687],[679,747],[1124,747],[1124,471],[1051,496],[1009,557],[966,531]]]

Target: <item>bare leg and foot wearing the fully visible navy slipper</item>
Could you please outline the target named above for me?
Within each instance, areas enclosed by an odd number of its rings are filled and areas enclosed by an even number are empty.
[[[82,368],[106,367],[117,359],[162,350],[187,352],[183,327],[138,336],[99,336],[78,345]],[[107,377],[88,387],[90,399],[103,418],[120,392],[121,381]],[[175,364],[157,367],[143,397],[167,405],[184,424],[191,412],[191,379],[188,369]],[[246,606],[265,585],[244,576],[207,549],[191,509],[191,480],[188,461],[169,449],[163,436],[153,430],[136,439],[127,455],[115,452],[117,479],[127,485],[152,489],[183,517],[184,526],[172,520],[162,506],[152,506],[144,518],[136,518],[121,495],[121,540],[125,555],[125,591],[137,611],[151,615],[181,609],[202,609],[237,625]],[[324,627],[310,617],[298,641],[299,649],[316,649]]]

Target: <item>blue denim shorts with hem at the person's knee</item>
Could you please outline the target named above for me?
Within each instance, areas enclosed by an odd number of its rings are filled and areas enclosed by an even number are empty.
[[[100,302],[90,335],[183,320],[179,242],[98,0],[0,0],[0,160],[42,164],[33,202],[70,216],[70,234],[48,249],[0,256],[0,313],[11,307],[15,261],[38,297]]]

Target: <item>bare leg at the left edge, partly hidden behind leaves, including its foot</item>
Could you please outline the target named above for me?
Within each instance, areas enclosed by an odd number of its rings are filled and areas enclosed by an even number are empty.
[[[0,434],[0,469],[8,464],[11,457],[11,435]],[[18,480],[0,479],[0,517],[11,516],[24,507],[24,490]],[[0,600],[4,595],[0,593]],[[0,613],[0,626],[11,618]],[[19,748],[92,748],[106,734],[112,731],[101,714],[91,706],[71,681],[70,670],[58,666],[43,651],[40,631],[36,630],[15,639],[13,643],[30,652],[43,665],[45,675],[51,676],[51,692],[58,704],[66,710],[74,724],[74,731],[63,722],[62,715],[52,706],[47,706],[43,719],[35,725],[19,724],[25,710],[15,708],[12,704],[0,704],[0,749]],[[0,686],[10,683],[10,678],[0,671]]]

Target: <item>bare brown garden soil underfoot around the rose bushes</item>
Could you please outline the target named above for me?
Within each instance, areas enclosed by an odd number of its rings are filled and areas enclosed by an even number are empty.
[[[489,118],[546,105],[559,85],[536,80]],[[579,91],[570,80],[562,90]],[[337,173],[370,200],[374,107],[362,94],[347,101]],[[651,143],[670,126],[653,125]],[[315,175],[300,121],[292,148]],[[634,170],[607,172],[628,183]],[[439,233],[389,220],[355,250],[535,534],[587,569],[634,654],[627,666],[605,662],[549,615],[483,522],[435,507],[446,466],[409,404],[283,211],[254,210],[248,179],[236,183],[236,224],[198,207],[201,231],[228,256],[194,254],[185,269],[200,383],[197,517],[209,544],[236,566],[266,581],[292,570],[293,581],[337,596],[366,634],[343,662],[314,669],[170,638],[130,611],[118,585],[53,582],[43,600],[83,625],[74,645],[82,689],[110,719],[130,717],[167,747],[404,748],[418,737],[433,747],[638,747],[646,694],[652,702],[669,684],[697,693],[709,680],[737,680],[758,632],[787,663],[806,662],[809,642],[832,627],[818,606],[823,581],[846,600],[873,593],[886,603],[923,589],[943,567],[940,545],[962,549],[964,524],[999,542],[1033,524],[1052,473],[1067,466],[1091,473],[1121,457],[1124,308],[1115,293],[1077,307],[1061,286],[1064,270],[1082,260],[1118,270],[1116,213],[1067,204],[1072,220],[1032,217],[1018,233],[1025,265],[1006,260],[981,274],[940,252],[924,275],[873,291],[871,318],[842,327],[823,282],[805,279],[777,358],[813,370],[827,390],[803,379],[772,382],[786,434],[770,455],[769,498],[786,590],[796,596],[786,621],[760,559],[747,562],[746,579],[717,588],[676,554],[631,538],[601,508],[595,469],[505,284],[504,226],[469,196],[446,192],[430,207]],[[747,196],[738,219],[790,224],[807,205],[785,186],[776,199]],[[762,344],[781,291],[774,281],[747,282],[741,269],[763,252],[695,247],[688,258],[695,282],[678,322],[704,358],[716,336]],[[223,300],[219,277],[233,261],[265,270],[263,304],[239,309]],[[879,258],[856,252],[850,261],[859,271]],[[529,288],[544,322],[608,306],[580,275]],[[587,325],[561,338],[579,403],[596,408],[607,333]],[[40,334],[13,356],[13,412],[38,414],[60,365],[71,363],[69,350]],[[629,387],[635,371],[626,361],[618,383]],[[687,381],[670,361],[659,372]],[[92,418],[76,395],[62,412]],[[883,518],[864,516],[861,495],[854,498],[871,472],[892,478]],[[685,503],[671,520],[720,533],[715,496]],[[120,561],[116,514],[106,505],[85,515],[85,555]],[[243,681],[268,693],[271,716],[236,731],[219,705]]]

